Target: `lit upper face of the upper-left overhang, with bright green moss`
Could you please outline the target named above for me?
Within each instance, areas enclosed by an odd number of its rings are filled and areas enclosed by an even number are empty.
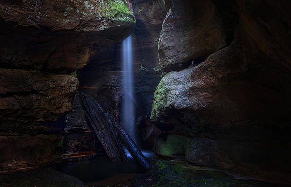
[[[46,26],[52,30],[99,31],[116,26],[117,22],[134,22],[124,0],[21,0],[1,2],[1,9],[0,16],[5,21],[17,22],[22,26]]]

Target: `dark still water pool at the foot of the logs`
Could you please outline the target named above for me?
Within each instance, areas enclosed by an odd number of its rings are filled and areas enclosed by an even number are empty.
[[[151,151],[142,151],[149,161],[154,157]],[[144,173],[145,170],[130,156],[127,163],[114,163],[108,158],[95,158],[82,162],[61,163],[56,170],[81,179],[85,183],[95,182],[117,174]]]

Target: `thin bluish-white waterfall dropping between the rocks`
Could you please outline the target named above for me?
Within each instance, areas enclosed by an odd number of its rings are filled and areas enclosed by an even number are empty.
[[[123,102],[122,102],[122,124],[129,136],[136,142],[135,116],[134,116],[134,92],[133,92],[133,64],[131,36],[123,41]]]

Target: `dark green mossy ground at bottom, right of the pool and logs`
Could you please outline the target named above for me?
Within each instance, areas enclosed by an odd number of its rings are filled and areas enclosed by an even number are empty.
[[[150,180],[144,180],[144,178]],[[148,173],[140,176],[136,186],[149,187],[273,187],[256,180],[235,179],[219,171],[191,166],[183,161],[154,160]]]

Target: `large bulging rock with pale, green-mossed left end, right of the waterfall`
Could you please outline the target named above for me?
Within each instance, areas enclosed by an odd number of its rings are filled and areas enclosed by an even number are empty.
[[[166,75],[155,92],[152,121],[184,125],[184,131],[222,140],[291,142],[286,134],[288,67],[247,45],[248,40],[240,41],[236,38],[201,64]]]

